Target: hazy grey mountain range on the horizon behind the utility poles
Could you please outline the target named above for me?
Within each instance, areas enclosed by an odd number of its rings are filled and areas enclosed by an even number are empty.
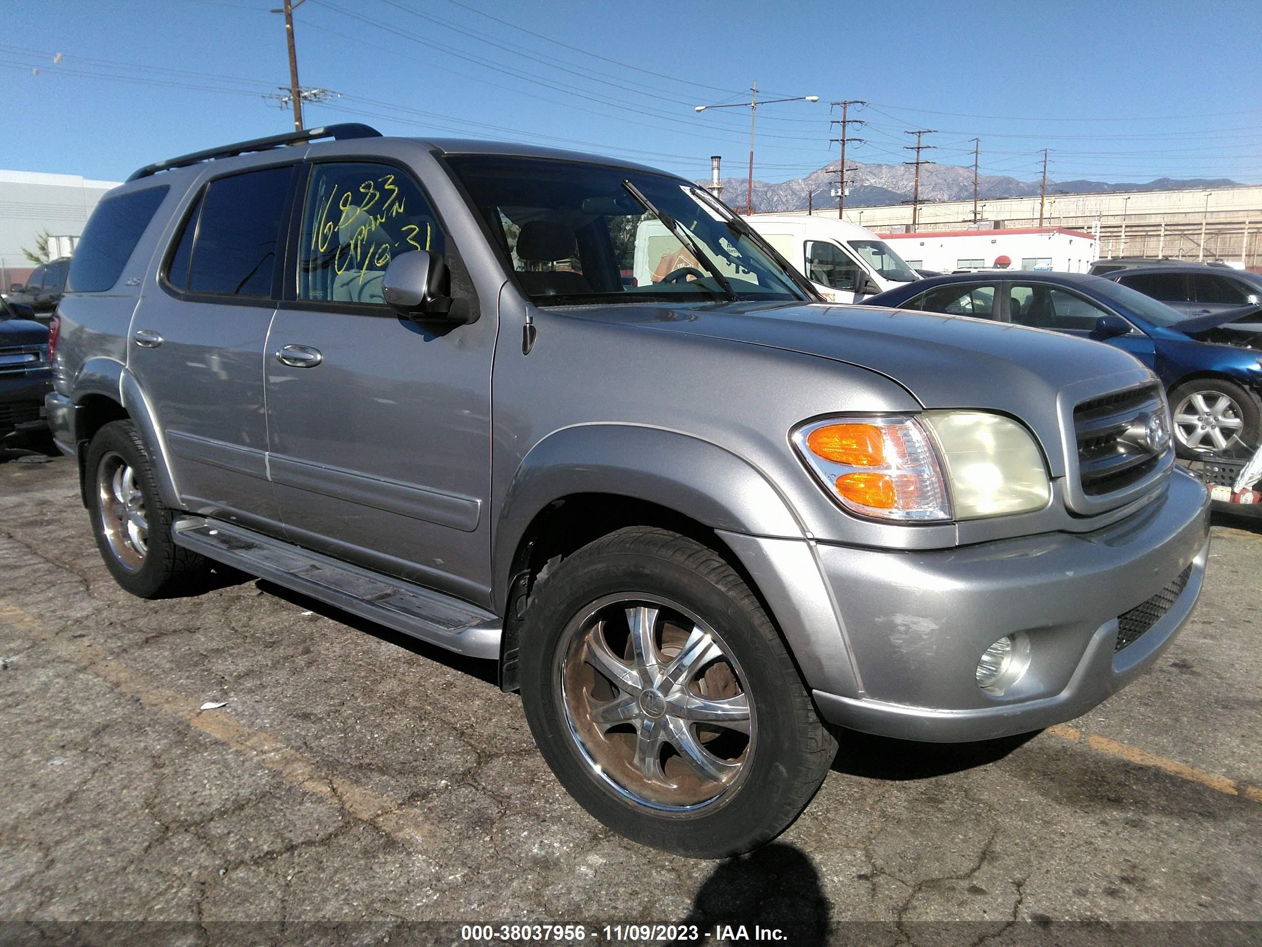
[[[861,164],[846,162],[846,177],[851,192],[847,207],[876,207],[911,200],[914,174],[906,164]],[[699,184],[709,182],[699,181]],[[982,174],[978,178],[978,197],[1027,197],[1039,193],[1037,181],[1018,181],[1005,176]],[[1156,178],[1146,184],[1112,184],[1106,181],[1047,181],[1047,193],[1099,193],[1109,191],[1170,191],[1179,188],[1234,187],[1229,178]],[[794,178],[779,184],[753,181],[753,207],[758,211],[799,211],[808,203],[815,207],[837,205],[832,188],[837,187],[837,165],[825,165],[804,178]],[[809,196],[809,197],[808,197]],[[973,169],[952,164],[925,164],[920,170],[920,200],[970,201],[973,198]],[[723,178],[723,201],[737,207],[745,206],[746,178]]]

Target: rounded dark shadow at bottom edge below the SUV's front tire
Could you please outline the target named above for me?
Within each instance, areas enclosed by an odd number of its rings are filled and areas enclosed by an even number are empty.
[[[732,941],[777,939],[813,947],[828,943],[832,914],[810,859],[793,845],[771,842],[719,862],[697,890],[683,923],[697,924],[703,941],[707,933],[716,938],[716,927],[729,926]],[[781,936],[760,938],[755,928]]]

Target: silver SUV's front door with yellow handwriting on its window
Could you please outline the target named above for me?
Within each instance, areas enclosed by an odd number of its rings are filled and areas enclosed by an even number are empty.
[[[485,601],[495,301],[454,328],[399,318],[381,293],[390,260],[449,250],[424,191],[391,164],[309,168],[297,287],[268,340],[271,479],[285,532]]]

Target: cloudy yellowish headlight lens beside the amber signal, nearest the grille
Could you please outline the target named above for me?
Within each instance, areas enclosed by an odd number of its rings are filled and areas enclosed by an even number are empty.
[[[1051,499],[1042,455],[1030,432],[1001,414],[926,412],[941,446],[957,519],[1041,510]]]

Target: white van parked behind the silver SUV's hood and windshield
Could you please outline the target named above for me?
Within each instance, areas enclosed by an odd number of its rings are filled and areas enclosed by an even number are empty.
[[[829,302],[853,303],[920,279],[888,244],[857,223],[799,213],[745,220]]]

